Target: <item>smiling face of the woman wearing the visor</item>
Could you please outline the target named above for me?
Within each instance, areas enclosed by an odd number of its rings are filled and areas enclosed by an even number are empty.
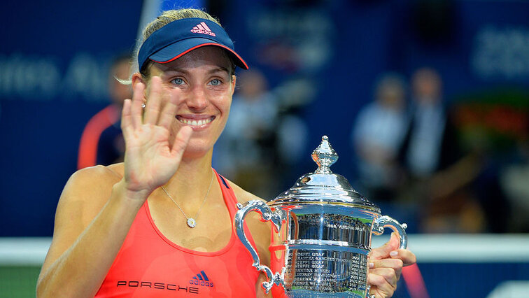
[[[171,142],[183,126],[193,129],[184,155],[200,156],[211,152],[230,113],[235,76],[231,61],[222,48],[204,46],[165,64],[150,67],[150,78],[162,78],[165,98],[176,97],[177,109],[171,125]],[[147,94],[150,80],[147,82]]]

